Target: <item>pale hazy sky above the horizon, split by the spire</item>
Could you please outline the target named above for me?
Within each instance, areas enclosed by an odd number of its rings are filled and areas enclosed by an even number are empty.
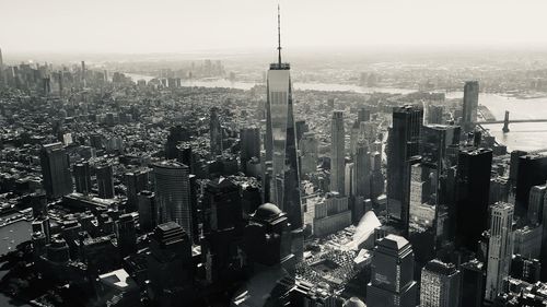
[[[0,0],[7,52],[275,48],[271,0]],[[546,0],[281,0],[282,45],[547,45]]]

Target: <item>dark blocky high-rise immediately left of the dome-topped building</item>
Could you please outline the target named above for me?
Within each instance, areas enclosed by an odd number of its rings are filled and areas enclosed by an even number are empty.
[[[220,178],[207,182],[203,191],[203,228],[221,231],[243,226],[240,188],[230,179]]]

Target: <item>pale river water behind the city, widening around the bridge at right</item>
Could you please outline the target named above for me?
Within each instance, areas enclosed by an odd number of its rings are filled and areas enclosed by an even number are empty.
[[[144,79],[150,81],[152,76],[126,73],[133,80]],[[203,86],[203,87],[231,87],[240,90],[249,90],[256,83],[247,82],[231,82],[225,79],[216,79],[207,81],[186,81],[183,86]],[[336,83],[299,83],[294,82],[295,90],[315,90],[315,91],[350,91],[356,93],[391,93],[391,94],[408,94],[416,92],[411,88],[396,87],[362,87],[351,84]],[[463,92],[452,92],[446,94],[446,98],[463,98]],[[498,119],[503,119],[505,110],[509,110],[510,118],[513,119],[534,119],[547,118],[547,97],[545,98],[516,98],[508,97],[499,94],[480,93],[479,104],[488,107],[492,115]],[[547,122],[521,122],[511,123],[510,132],[503,133],[501,129],[503,125],[486,125],[485,128],[490,130],[490,133],[496,137],[498,142],[505,144],[509,151],[524,150],[533,151],[547,147]]]

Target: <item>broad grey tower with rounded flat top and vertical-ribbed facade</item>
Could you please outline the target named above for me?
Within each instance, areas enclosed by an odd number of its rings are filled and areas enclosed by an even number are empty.
[[[158,224],[176,222],[191,235],[190,182],[188,166],[173,161],[153,165]]]

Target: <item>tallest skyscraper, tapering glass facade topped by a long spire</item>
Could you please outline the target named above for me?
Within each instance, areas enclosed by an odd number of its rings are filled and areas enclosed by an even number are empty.
[[[281,32],[278,14],[278,62],[268,70],[266,101],[266,161],[272,162],[269,200],[287,212],[292,229],[303,224],[296,131],[290,64],[281,61]]]

